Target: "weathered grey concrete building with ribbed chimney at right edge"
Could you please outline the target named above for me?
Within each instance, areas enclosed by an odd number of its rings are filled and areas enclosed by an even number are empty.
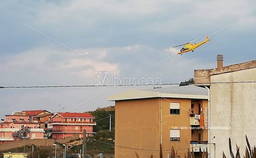
[[[209,142],[216,144],[216,157],[222,157],[222,151],[228,155],[229,137],[244,155],[245,134],[256,142],[256,60],[223,67],[223,56],[218,55],[217,68],[195,70],[195,85],[209,88]],[[214,156],[214,146],[210,155]]]

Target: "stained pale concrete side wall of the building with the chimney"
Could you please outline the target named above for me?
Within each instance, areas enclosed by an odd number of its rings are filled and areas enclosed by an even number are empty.
[[[213,75],[211,82],[256,81],[256,68]],[[211,129],[211,143],[216,143],[216,158],[222,151],[229,156],[228,138],[231,138],[233,152],[235,145],[244,154],[246,140],[256,145],[256,83],[211,84],[210,86],[210,125],[211,127],[231,127],[231,129]],[[214,148],[211,147],[211,157]],[[242,157],[242,155],[241,155]]]

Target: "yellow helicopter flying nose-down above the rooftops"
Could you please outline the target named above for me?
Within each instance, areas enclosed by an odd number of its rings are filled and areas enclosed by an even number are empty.
[[[206,36],[205,40],[202,41],[202,42],[199,42],[199,43],[192,43],[193,41],[197,40],[192,40],[190,42],[187,42],[187,43],[184,43],[184,44],[179,44],[179,45],[176,45],[176,46],[173,46],[174,47],[178,47],[178,46],[182,46],[182,45],[185,45],[183,48],[180,49],[180,51],[177,53],[177,54],[183,54],[183,53],[186,53],[186,52],[189,52],[189,51],[192,51],[194,52],[194,50],[196,48],[198,48],[199,46],[203,45],[204,43],[207,43],[210,39],[208,38],[209,36]]]

